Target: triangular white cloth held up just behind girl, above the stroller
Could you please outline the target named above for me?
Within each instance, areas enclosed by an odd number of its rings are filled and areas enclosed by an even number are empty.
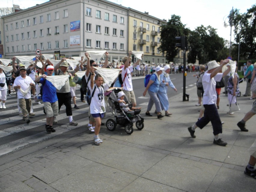
[[[110,87],[111,83],[115,81],[118,74],[122,69],[109,69],[109,68],[99,68],[94,67],[94,69],[97,69],[97,72],[103,77],[103,81],[108,84]]]

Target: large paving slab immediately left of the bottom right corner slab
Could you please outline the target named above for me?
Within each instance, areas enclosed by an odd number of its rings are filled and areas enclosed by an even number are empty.
[[[167,156],[142,177],[190,192],[205,192],[219,167],[178,157]]]

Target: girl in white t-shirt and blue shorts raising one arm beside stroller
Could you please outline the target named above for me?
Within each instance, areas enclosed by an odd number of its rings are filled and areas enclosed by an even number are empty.
[[[91,92],[91,103],[90,103],[90,113],[96,121],[94,130],[94,143],[99,145],[102,143],[102,139],[99,138],[99,131],[101,125],[101,119],[104,117],[105,112],[105,102],[104,102],[104,89],[101,86],[103,84],[103,78],[100,74],[97,74],[94,78],[94,69],[90,69],[90,92]],[[93,81],[94,78],[94,81]],[[93,93],[94,92],[94,93]],[[92,97],[93,94],[93,97]]]

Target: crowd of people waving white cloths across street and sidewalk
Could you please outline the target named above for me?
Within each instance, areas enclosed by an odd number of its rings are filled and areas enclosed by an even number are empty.
[[[173,71],[175,73],[175,65],[165,64],[150,66],[140,64],[143,54],[133,65],[131,65],[132,51],[129,52],[128,56],[123,57],[120,63],[109,64],[108,52],[105,51],[104,54],[105,62],[98,64],[90,57],[90,53],[86,52],[85,58],[81,57],[81,60],[79,60],[75,66],[71,66],[66,58],[62,58],[58,63],[53,64],[49,59],[44,58],[44,56],[40,54],[35,57],[34,62],[27,68],[21,62],[17,64],[18,60],[14,56],[11,59],[12,62],[8,65],[12,66],[12,70],[5,73],[4,71],[6,68],[1,67],[0,65],[0,108],[6,108],[5,101],[7,95],[11,95],[11,85],[13,85],[13,89],[17,94],[19,114],[23,116],[23,120],[25,120],[26,123],[30,123],[31,120],[29,117],[35,115],[33,113],[31,98],[34,98],[37,104],[41,104],[38,100],[38,98],[41,98],[46,113],[45,129],[47,133],[54,133],[56,131],[53,128],[53,123],[58,122],[57,116],[63,104],[66,107],[66,115],[69,118],[69,125],[76,126],[78,123],[76,123],[72,117],[72,100],[74,108],[78,109],[79,107],[75,100],[76,84],[73,82],[73,78],[77,75],[78,71],[84,72],[82,79],[84,78],[86,86],[81,84],[81,102],[85,102],[84,94],[88,92],[88,104],[90,104],[88,111],[88,129],[94,133],[94,143],[100,145],[103,142],[102,139],[99,138],[100,126],[102,125],[101,119],[105,116],[106,112],[104,92],[110,87],[110,84],[106,83],[106,80],[104,79],[105,76],[98,72],[100,71],[99,67],[101,67],[102,69],[115,68],[120,70],[120,75],[115,77],[115,80],[111,83],[119,85],[118,87],[123,87],[122,92],[118,97],[118,100],[120,101],[119,103],[126,104],[123,101],[123,96],[125,95],[128,101],[132,104],[131,108],[127,108],[126,111],[138,109],[136,107],[136,96],[133,91],[132,76],[149,75],[148,83],[145,84],[145,91],[143,92],[143,96],[146,96],[147,92],[150,96],[145,115],[150,117],[153,116],[150,111],[154,104],[156,108],[155,113],[157,114],[158,119],[164,117],[162,111],[165,112],[164,115],[167,117],[172,115],[172,113],[168,111],[169,100],[167,89],[168,87],[171,87],[177,92],[177,89],[169,77],[170,73],[173,73]],[[38,61],[41,62],[41,65],[38,65]],[[236,95],[239,93],[240,80],[239,75],[236,72],[236,62],[234,63],[229,59],[225,59],[221,60],[219,63],[210,61],[206,66],[191,66],[190,71],[197,71],[197,74],[193,75],[197,78],[198,103],[196,106],[201,106],[203,104],[200,109],[198,121],[188,127],[188,131],[192,138],[196,137],[195,130],[197,127],[203,129],[203,127],[211,121],[214,135],[213,143],[221,146],[227,145],[227,142],[224,142],[219,137],[219,134],[222,133],[223,122],[221,122],[218,114],[218,103],[221,87],[225,87],[224,93],[228,96],[230,106],[236,104]],[[251,96],[250,99],[255,99],[256,91],[254,91],[254,87],[256,87],[256,63],[252,65],[252,62],[248,61],[246,66],[247,68],[244,71],[246,91],[243,96]],[[83,86],[85,88],[83,88]],[[88,99],[88,94],[86,97]],[[234,114],[234,111],[231,111],[230,108],[228,113]],[[248,129],[245,128],[245,123],[254,116],[254,114],[256,114],[256,101],[254,101],[252,109],[237,123],[237,126],[241,131],[248,132]],[[245,174],[256,178],[256,171],[254,169],[256,163],[256,139],[250,148],[250,152],[250,161],[245,169]]]

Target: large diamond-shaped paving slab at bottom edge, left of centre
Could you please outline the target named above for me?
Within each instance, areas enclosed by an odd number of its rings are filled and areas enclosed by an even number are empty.
[[[51,183],[50,186],[61,192],[119,192],[136,178],[138,176],[93,162]]]

